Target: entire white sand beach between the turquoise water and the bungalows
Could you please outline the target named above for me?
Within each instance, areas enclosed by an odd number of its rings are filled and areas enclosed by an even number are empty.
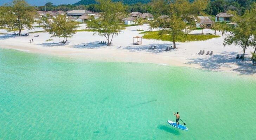
[[[36,26],[36,25],[34,25]],[[86,25],[79,25],[78,29],[85,29]],[[242,54],[239,46],[223,46],[225,36],[217,32],[221,37],[206,41],[177,42],[177,49],[164,51],[173,42],[160,40],[142,40],[142,45],[133,45],[134,36],[143,36],[141,31],[137,31],[139,26],[126,27],[118,36],[114,36],[111,46],[99,44],[100,41],[107,41],[105,37],[93,35],[93,32],[77,32],[73,37],[68,38],[66,44],[59,43],[63,38],[53,37],[48,33],[34,33],[29,36],[14,36],[12,32],[1,29],[0,48],[15,49],[31,53],[41,53],[65,57],[79,57],[96,61],[110,62],[138,62],[154,63],[163,65],[187,66],[213,71],[235,72],[241,75],[256,75],[256,66],[252,66],[250,61],[251,51],[249,48],[245,52],[245,60],[236,59],[237,54]],[[148,25],[141,26],[147,31]],[[44,30],[36,28],[23,30],[21,33]],[[213,30],[204,30],[204,33],[213,34]],[[194,30],[191,34],[201,34],[201,30]],[[34,37],[39,35],[39,37]],[[32,39],[34,42],[29,43]],[[53,41],[46,42],[46,40]],[[120,48],[121,46],[121,48]],[[155,50],[149,50],[151,46],[156,46]],[[213,51],[212,56],[198,55],[200,50]]]

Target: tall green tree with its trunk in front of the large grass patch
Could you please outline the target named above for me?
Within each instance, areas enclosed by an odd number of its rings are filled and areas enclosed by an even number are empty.
[[[206,8],[207,0],[195,0],[190,3],[188,0],[169,0],[168,3],[168,18],[169,20],[161,20],[166,28],[163,28],[159,32],[159,35],[170,34],[173,40],[173,48],[176,48],[175,39],[178,36],[185,36],[190,32],[186,28],[186,21],[193,21],[193,17],[202,14],[203,10]]]

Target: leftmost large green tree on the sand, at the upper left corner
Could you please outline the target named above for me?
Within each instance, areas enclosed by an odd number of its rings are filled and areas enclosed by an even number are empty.
[[[13,0],[11,5],[5,5],[4,20],[0,25],[7,26],[8,28],[18,28],[19,36],[23,28],[32,29],[34,23],[34,15],[36,10],[33,6],[30,6],[25,0]]]

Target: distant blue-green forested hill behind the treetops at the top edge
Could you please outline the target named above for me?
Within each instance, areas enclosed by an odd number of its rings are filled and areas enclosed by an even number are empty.
[[[122,1],[124,4],[131,5],[138,2],[148,3],[151,0],[113,0],[113,1]],[[95,3],[97,3],[95,0],[81,0],[76,2],[74,5],[89,5],[89,4],[95,4]]]

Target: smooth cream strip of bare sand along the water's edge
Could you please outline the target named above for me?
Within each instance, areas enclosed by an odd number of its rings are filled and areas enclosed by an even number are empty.
[[[110,46],[111,47],[111,46]],[[167,65],[167,66],[178,66],[178,67],[187,67],[187,68],[195,68],[195,69],[201,69],[201,70],[209,70],[209,71],[215,71],[215,72],[228,72],[228,73],[234,73],[237,75],[247,75],[247,76],[253,76],[256,77],[256,73],[251,74],[241,74],[238,71],[232,71],[232,68],[228,67],[221,67],[218,70],[213,69],[205,69],[202,68],[202,66],[198,64],[186,64],[183,59],[183,61],[177,61],[177,59],[172,59],[170,56],[163,56],[161,54],[151,54],[151,53],[143,53],[143,52],[127,52],[123,50],[106,50],[106,49],[84,49],[82,52],[78,52],[79,50],[70,50],[68,49],[68,46],[65,46],[65,49],[62,50],[44,50],[39,48],[29,48],[29,47],[22,47],[22,46],[16,46],[16,45],[3,45],[0,43],[1,49],[11,49],[11,50],[18,50],[23,51],[27,53],[32,54],[43,54],[43,55],[50,55],[50,56],[57,56],[57,57],[66,57],[66,58],[75,58],[75,59],[87,59],[92,61],[100,61],[100,62],[127,62],[127,63],[151,63],[151,64],[157,64],[157,65]],[[97,54],[98,51],[101,51],[101,54]],[[105,54],[104,54],[105,53]],[[119,55],[113,54],[120,54],[122,53],[122,57],[120,58]],[[102,56],[102,54],[104,54]],[[133,58],[130,58],[132,56]],[[146,59],[148,57],[153,57],[157,59],[156,61],[152,61],[152,59]]]

